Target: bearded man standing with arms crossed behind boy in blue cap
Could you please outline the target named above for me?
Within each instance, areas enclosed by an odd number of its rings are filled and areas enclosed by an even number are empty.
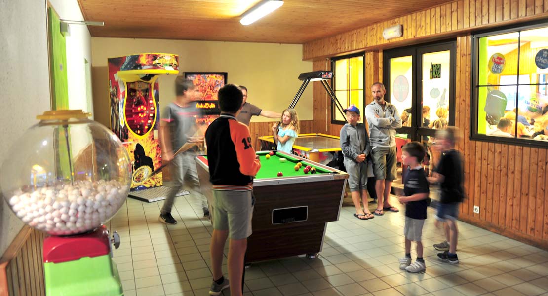
[[[379,199],[375,215],[384,211],[399,212],[390,204],[392,181],[396,179],[396,129],[402,127],[402,120],[396,106],[384,100],[384,85],[376,82],[371,86],[373,102],[366,106],[366,119],[369,124],[369,140],[375,174],[375,191]]]

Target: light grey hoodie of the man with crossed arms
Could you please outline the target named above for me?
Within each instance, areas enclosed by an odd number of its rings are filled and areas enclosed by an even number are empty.
[[[372,147],[396,146],[396,129],[402,127],[402,119],[396,106],[385,102],[384,109],[375,101],[366,106],[367,123],[369,124],[369,138]],[[379,118],[375,117],[375,114]]]

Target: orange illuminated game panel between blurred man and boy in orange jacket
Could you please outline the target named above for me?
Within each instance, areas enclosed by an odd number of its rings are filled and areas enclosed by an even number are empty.
[[[217,94],[226,84],[227,77],[227,72],[185,72],[185,78],[192,80],[200,92],[196,108],[201,109],[204,115],[196,117],[198,126],[209,125],[219,117],[221,111]]]

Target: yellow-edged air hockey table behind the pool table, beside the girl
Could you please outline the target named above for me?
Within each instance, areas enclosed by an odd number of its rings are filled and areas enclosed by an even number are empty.
[[[275,149],[273,136],[259,137],[261,149]],[[299,134],[293,143],[296,155],[321,164],[333,160],[332,154],[341,150],[339,137],[326,134]]]

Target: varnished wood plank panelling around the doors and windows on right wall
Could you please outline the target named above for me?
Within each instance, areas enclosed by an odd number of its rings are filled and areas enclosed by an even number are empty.
[[[548,149],[470,139],[472,31],[548,18],[548,1],[459,0],[303,45],[313,71],[329,69],[324,57],[366,52],[366,85],[382,81],[383,50],[456,39],[455,125],[463,133],[465,191],[460,218],[484,229],[548,249]],[[402,24],[401,38],[384,40],[383,28]],[[331,104],[312,84],[315,132],[337,135]],[[367,87],[366,87],[367,88]],[[365,92],[366,104],[372,101]],[[326,112],[327,109],[327,112]],[[479,214],[473,206],[479,206]]]

